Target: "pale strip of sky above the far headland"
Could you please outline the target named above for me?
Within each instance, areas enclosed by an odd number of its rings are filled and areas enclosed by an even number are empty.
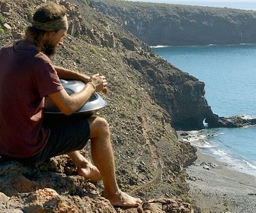
[[[169,4],[180,4],[180,5],[199,5],[219,8],[236,8],[244,10],[256,11],[255,0],[126,0],[132,2],[155,2],[155,3],[169,3]]]

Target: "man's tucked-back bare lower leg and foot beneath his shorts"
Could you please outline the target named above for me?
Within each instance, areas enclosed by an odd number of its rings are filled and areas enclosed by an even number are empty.
[[[79,151],[69,152],[68,155],[77,167],[78,175],[85,176],[85,178],[93,181],[101,180],[101,173],[98,168],[82,156]]]

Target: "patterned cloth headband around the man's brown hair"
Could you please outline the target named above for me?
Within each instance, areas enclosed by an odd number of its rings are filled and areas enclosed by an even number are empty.
[[[65,15],[57,20],[47,21],[44,23],[39,21],[33,21],[32,27],[35,27],[38,30],[45,31],[68,30],[68,18]]]

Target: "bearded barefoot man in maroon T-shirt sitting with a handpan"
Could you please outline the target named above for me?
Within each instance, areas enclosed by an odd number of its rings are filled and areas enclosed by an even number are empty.
[[[78,174],[103,180],[104,197],[115,206],[136,207],[140,199],[117,186],[110,131],[105,119],[69,116],[94,92],[107,92],[103,75],[86,75],[53,65],[49,56],[62,45],[68,29],[66,8],[54,3],[41,5],[27,27],[24,40],[0,50],[0,155],[24,163],[38,163],[68,154]],[[85,83],[82,91],[69,95],[59,78]],[[45,97],[66,116],[43,119]],[[78,152],[91,140],[91,164]]]

